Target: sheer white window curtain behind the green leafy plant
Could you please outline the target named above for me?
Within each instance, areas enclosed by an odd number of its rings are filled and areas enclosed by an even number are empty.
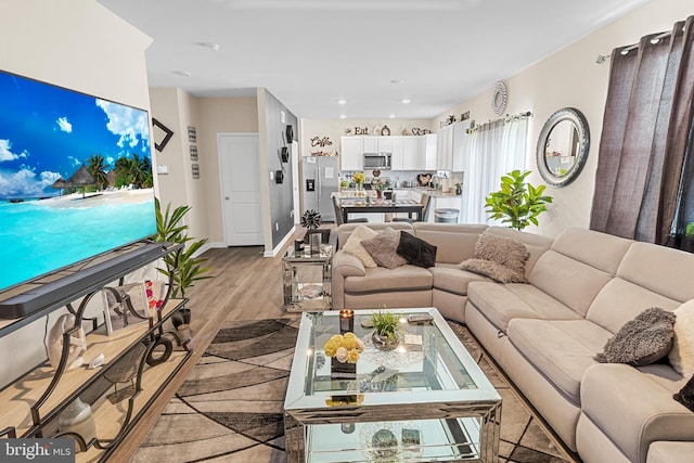
[[[463,151],[462,223],[492,223],[485,198],[499,190],[501,176],[525,166],[527,117],[498,119],[471,130]]]

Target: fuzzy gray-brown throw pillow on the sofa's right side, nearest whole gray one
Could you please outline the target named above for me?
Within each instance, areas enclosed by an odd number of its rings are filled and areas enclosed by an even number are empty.
[[[643,366],[667,357],[674,335],[674,313],[652,307],[639,313],[594,358],[601,363]]]

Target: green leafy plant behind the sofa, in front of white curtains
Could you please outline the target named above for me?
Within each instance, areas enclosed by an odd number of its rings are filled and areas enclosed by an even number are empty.
[[[530,170],[513,170],[501,177],[501,190],[485,198],[490,219],[501,219],[502,223],[523,230],[530,223],[538,224],[538,216],[547,210],[552,196],[543,195],[545,185],[532,187],[525,179]]]

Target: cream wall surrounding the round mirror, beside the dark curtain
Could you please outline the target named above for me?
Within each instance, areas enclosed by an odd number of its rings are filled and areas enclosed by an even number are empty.
[[[565,188],[548,188],[554,196],[550,210],[540,217],[539,232],[557,235],[567,227],[584,227],[590,223],[597,151],[602,130],[603,111],[607,95],[609,61],[595,64],[599,54],[609,54],[613,49],[635,43],[647,34],[671,30],[677,21],[694,14],[692,2],[682,0],[652,0],[628,15],[599,29],[590,36],[548,56],[527,69],[504,79],[509,90],[506,114],[531,111],[528,126],[526,168],[534,171],[532,184],[542,183],[537,173],[536,145],[542,125],[555,111],[571,106],[580,110],[588,119],[591,141],[586,167],[580,176]],[[484,43],[479,44],[484,47]],[[471,119],[479,123],[496,119],[491,111],[491,89],[471,100],[447,110],[434,124],[449,114],[471,112]]]

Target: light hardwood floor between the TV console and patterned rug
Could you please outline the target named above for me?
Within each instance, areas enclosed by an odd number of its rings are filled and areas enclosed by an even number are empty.
[[[330,228],[324,224],[322,228]],[[299,228],[294,237],[303,237]],[[138,449],[170,398],[181,386],[192,368],[205,352],[224,320],[262,320],[279,317],[299,317],[283,309],[282,256],[294,237],[275,257],[262,257],[262,246],[215,248],[203,257],[211,267],[213,279],[196,282],[185,296],[190,299],[191,329],[194,353],[181,371],[167,385],[157,400],[138,422],[132,432],[114,452],[110,461],[127,461]]]

